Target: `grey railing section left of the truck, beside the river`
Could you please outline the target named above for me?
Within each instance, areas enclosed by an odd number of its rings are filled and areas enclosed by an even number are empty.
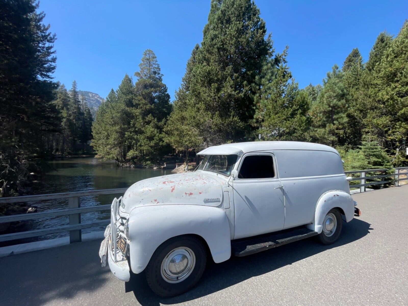
[[[21,220],[33,220],[44,217],[57,217],[64,215],[69,216],[69,225],[54,226],[51,228],[43,228],[32,231],[4,234],[0,235],[0,242],[30,237],[38,237],[68,231],[70,243],[80,242],[82,240],[81,232],[82,229],[108,225],[110,223],[110,219],[81,223],[81,213],[89,213],[91,211],[107,211],[111,209],[111,204],[81,207],[81,197],[124,193],[126,190],[127,188],[115,188],[115,189],[73,191],[64,193],[51,193],[47,195],[23,195],[21,197],[0,197],[0,205],[4,203],[17,203],[17,202],[22,203],[55,199],[68,199],[68,209],[52,209],[38,213],[25,213],[19,215],[2,216],[0,217],[0,223]]]

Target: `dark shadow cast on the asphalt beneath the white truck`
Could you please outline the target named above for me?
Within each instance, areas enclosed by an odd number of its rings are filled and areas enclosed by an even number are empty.
[[[323,245],[311,237],[291,244],[286,244],[268,251],[246,257],[231,257],[220,264],[210,259],[200,282],[192,290],[172,298],[160,298],[155,295],[146,283],[144,273],[134,275],[129,286],[137,301],[142,305],[177,304],[191,301],[223,290],[235,284],[269,273],[299,260],[354,242],[370,233],[370,224],[358,219],[343,223],[342,233],[337,242]]]

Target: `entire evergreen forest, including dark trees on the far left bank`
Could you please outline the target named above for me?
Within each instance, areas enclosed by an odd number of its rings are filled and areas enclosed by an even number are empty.
[[[293,140],[335,147],[347,170],[408,164],[408,22],[379,33],[368,59],[350,50],[322,84],[299,88],[289,48],[276,51],[250,0],[212,0],[170,100],[151,49],[92,116],[74,81],[53,80],[56,35],[33,0],[6,1],[0,16],[0,188],[19,192],[36,160],[84,151],[152,166],[229,142]]]

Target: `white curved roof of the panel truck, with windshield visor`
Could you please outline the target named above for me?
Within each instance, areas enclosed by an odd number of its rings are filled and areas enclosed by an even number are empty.
[[[339,154],[335,149],[324,144],[298,141],[253,141],[222,144],[220,146],[210,146],[197,153],[197,155],[232,155],[242,156],[244,153],[253,151],[269,150],[315,150],[329,151]]]

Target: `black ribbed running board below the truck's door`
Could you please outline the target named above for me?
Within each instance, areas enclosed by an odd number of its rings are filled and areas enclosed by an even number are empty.
[[[231,248],[235,256],[241,257],[312,237],[317,234],[317,232],[301,226],[275,233],[233,240],[231,242]]]

